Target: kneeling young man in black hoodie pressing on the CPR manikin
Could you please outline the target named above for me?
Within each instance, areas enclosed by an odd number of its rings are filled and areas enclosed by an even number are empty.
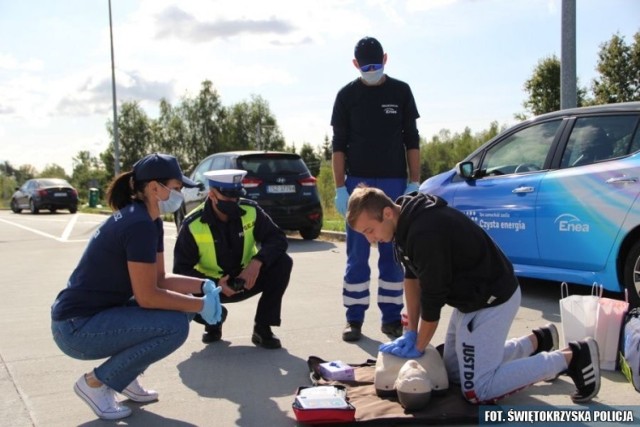
[[[347,222],[369,242],[393,242],[405,267],[409,325],[380,351],[416,358],[431,342],[442,307],[454,308],[443,359],[449,380],[471,403],[490,403],[567,371],[571,399],[590,401],[600,389],[598,345],[592,338],[557,350],[553,324],[507,339],[520,307],[511,262],[491,237],[436,196],[413,192],[394,203],[360,186],[349,198]]]

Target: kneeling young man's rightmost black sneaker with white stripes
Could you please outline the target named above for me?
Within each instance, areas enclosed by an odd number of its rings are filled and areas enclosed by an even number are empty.
[[[572,341],[569,347],[573,352],[567,374],[576,385],[571,395],[574,403],[589,402],[600,391],[600,356],[598,343],[591,337],[584,341]]]

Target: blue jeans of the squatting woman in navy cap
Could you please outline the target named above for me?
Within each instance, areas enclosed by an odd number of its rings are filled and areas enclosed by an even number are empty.
[[[137,305],[109,308],[90,317],[51,322],[53,340],[80,360],[108,358],[94,370],[98,380],[121,392],[149,365],[178,349],[189,335],[193,313]]]

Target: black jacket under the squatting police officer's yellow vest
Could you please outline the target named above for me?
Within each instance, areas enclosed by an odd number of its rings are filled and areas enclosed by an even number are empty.
[[[269,267],[282,254],[287,252],[289,243],[284,232],[274,224],[257,203],[240,199],[242,205],[252,205],[256,208],[256,222],[253,236],[258,244],[258,253],[254,258],[262,261],[263,268]],[[198,245],[189,231],[191,221],[202,221],[209,225],[215,242],[218,265],[225,274],[237,276],[242,271],[242,253],[244,239],[242,237],[242,220],[236,218],[228,222],[218,219],[211,207],[211,202],[206,201],[204,209],[195,215],[189,215],[180,227],[178,238],[173,252],[173,272],[187,276],[204,277],[194,267],[198,264],[200,256]],[[213,279],[219,279],[214,277]]]

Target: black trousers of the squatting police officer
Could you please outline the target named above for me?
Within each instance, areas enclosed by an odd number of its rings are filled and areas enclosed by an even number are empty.
[[[261,294],[256,308],[255,323],[263,326],[280,326],[282,298],[289,285],[292,268],[293,260],[288,254],[284,253],[272,265],[269,267],[263,266],[260,269],[260,274],[251,290],[245,290],[230,297],[220,293],[220,302],[222,304],[230,304]],[[200,315],[196,315],[194,320],[204,324],[206,330],[206,323]]]

